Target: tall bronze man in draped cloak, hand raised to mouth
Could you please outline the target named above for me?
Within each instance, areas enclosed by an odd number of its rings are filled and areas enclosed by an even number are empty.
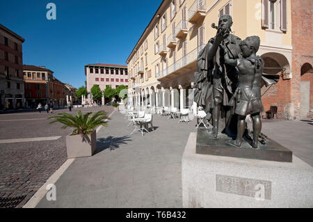
[[[221,106],[228,106],[230,97],[236,90],[238,72],[232,65],[224,61],[224,54],[232,59],[239,58],[241,53],[239,43],[241,39],[231,32],[232,17],[223,15],[218,20],[215,38],[211,38],[206,47],[200,51],[198,56],[198,70],[195,72],[195,102],[203,106],[207,116],[212,116],[212,135],[218,136],[218,122],[220,119]],[[230,128],[230,108],[225,109],[226,130]],[[211,114],[211,115],[210,115]]]

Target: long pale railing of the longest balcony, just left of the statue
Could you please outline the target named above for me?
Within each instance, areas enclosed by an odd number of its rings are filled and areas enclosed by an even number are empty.
[[[176,70],[179,70],[180,68],[183,68],[186,65],[189,65],[190,63],[193,63],[197,60],[199,52],[205,47],[204,44],[196,47],[191,52],[186,54],[185,56],[182,56],[178,61],[175,63],[172,63],[172,65],[168,66],[168,68],[162,70],[162,72],[158,73],[157,79],[166,77],[168,74],[171,74],[172,72],[175,72]]]

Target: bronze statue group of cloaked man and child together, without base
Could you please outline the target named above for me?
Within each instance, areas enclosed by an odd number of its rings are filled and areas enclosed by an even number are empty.
[[[264,61],[256,53],[258,36],[241,40],[231,33],[232,17],[223,15],[218,20],[215,38],[211,38],[200,51],[195,72],[195,102],[207,112],[213,125],[212,138],[218,138],[220,117],[225,120],[223,133],[236,138],[227,141],[241,147],[247,134],[246,116],[252,118],[252,148],[258,148],[262,129],[260,112],[262,85],[277,83],[279,77],[268,78],[263,74]]]

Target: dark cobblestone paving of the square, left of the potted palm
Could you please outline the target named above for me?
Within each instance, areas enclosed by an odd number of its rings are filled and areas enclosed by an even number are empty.
[[[111,113],[113,107],[81,109],[83,113],[97,110]],[[69,112],[65,109],[52,114],[42,111],[0,115],[0,207],[22,207],[66,161],[65,136],[72,129],[61,129],[61,123],[49,125],[47,120],[64,111]],[[72,114],[77,111],[73,109]],[[49,136],[61,137],[44,141]],[[26,138],[39,141],[5,143],[8,139]]]

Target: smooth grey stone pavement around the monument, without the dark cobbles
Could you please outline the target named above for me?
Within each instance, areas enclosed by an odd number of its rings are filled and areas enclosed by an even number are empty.
[[[177,123],[154,115],[153,122],[154,132],[129,135],[133,127],[126,127],[121,113],[113,113],[109,126],[97,134],[96,154],[77,158],[56,182],[56,201],[42,198],[37,207],[182,207],[182,154],[189,134],[196,132],[195,120]],[[307,127],[301,121],[264,122],[263,127],[273,138],[290,134],[295,124]],[[312,138],[303,138],[312,144]],[[312,157],[312,147],[307,152]]]

